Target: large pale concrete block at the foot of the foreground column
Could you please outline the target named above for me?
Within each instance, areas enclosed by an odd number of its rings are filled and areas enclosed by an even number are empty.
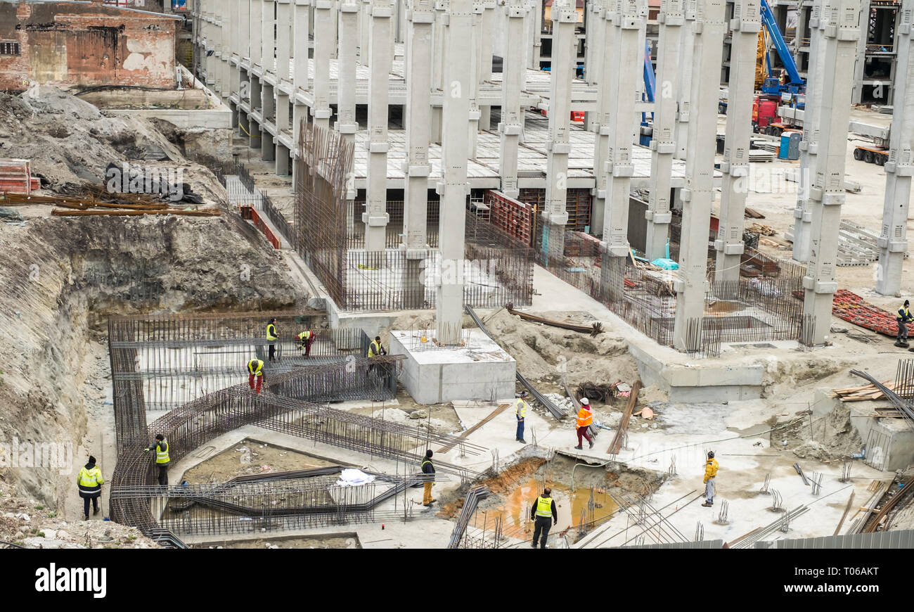
[[[418,403],[514,397],[514,358],[479,329],[465,346],[441,348],[421,342],[420,331],[391,331],[390,354],[405,355],[400,381]]]

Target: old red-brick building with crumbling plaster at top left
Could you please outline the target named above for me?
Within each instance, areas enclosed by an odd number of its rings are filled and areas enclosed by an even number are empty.
[[[0,90],[175,89],[183,17],[92,2],[0,0]]]

